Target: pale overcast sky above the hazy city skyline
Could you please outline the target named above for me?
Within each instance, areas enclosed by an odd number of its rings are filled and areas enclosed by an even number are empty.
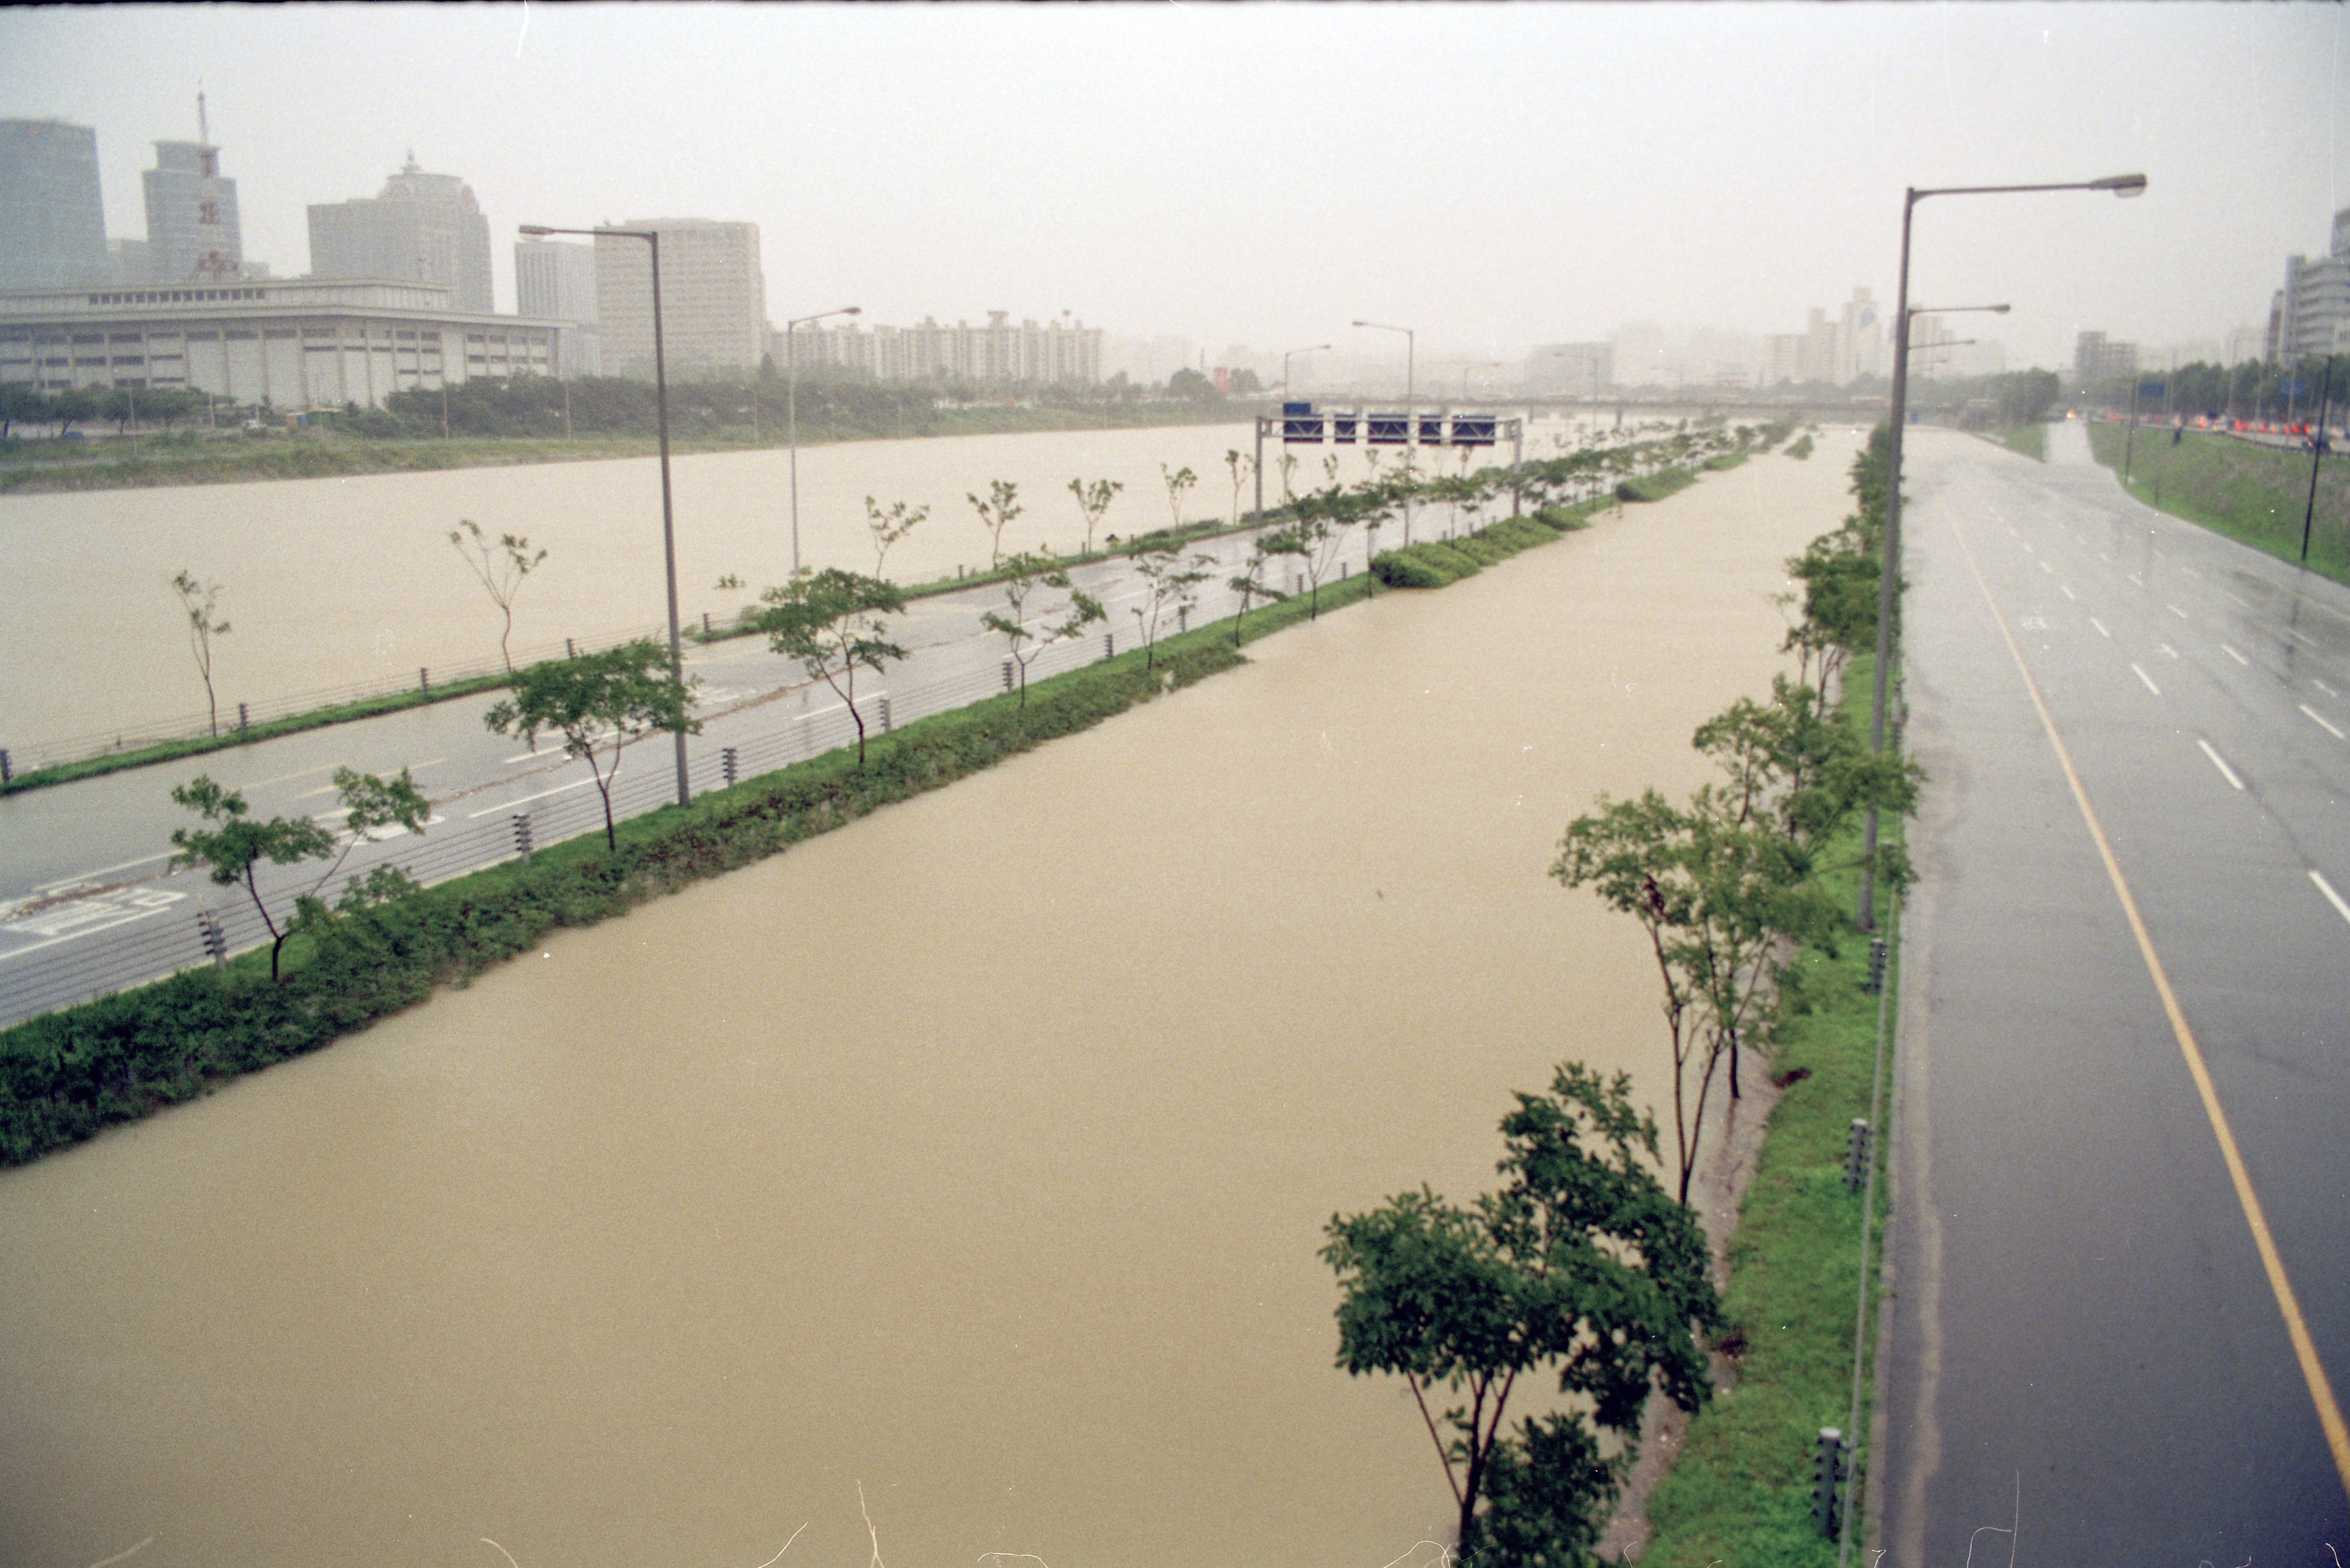
[[[195,136],[247,259],[409,153],[517,223],[750,219],[768,310],[1048,317],[1516,357],[1622,322],[1889,301],[1904,186],[2146,172],[2143,200],[1920,207],[1913,299],[2012,301],[2009,364],[2268,317],[2345,188],[2343,5],[477,5],[0,12],[0,118],[96,127],[108,235]]]

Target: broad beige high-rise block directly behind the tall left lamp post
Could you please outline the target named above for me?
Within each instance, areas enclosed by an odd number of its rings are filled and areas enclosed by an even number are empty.
[[[660,235],[660,336],[670,374],[759,369],[766,350],[759,226],[630,219],[620,228]],[[606,374],[653,374],[651,249],[644,240],[595,242],[595,317]]]

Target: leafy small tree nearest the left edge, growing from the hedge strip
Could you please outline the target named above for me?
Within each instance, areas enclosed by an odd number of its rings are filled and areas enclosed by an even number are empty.
[[[343,837],[320,827],[308,816],[284,818],[273,816],[266,823],[254,823],[247,818],[249,806],[244,797],[235,790],[223,790],[209,776],[197,773],[188,783],[172,790],[172,799],[188,811],[195,811],[212,827],[174,827],[172,844],[179,853],[172,856],[172,870],[186,865],[202,865],[212,882],[219,886],[244,884],[244,893],[254,900],[254,910],[261,914],[261,924],[270,933],[270,985],[280,976],[280,954],[284,952],[287,938],[296,931],[322,926],[334,917],[334,910],[320,900],[320,891],[327,882],[343,870],[343,860],[357,849],[367,837],[381,827],[400,825],[409,832],[423,832],[425,818],[432,816],[432,804],[416,792],[416,783],[409,778],[407,769],[400,769],[400,778],[383,780],[374,773],[352,773],[350,769],[334,771],[336,795],[343,799]],[[261,898],[261,884],[254,877],[254,867],[263,860],[273,865],[298,865],[303,860],[331,860],[331,865],[320,872],[306,891],[294,898],[294,914],[277,924],[270,914],[270,905]],[[411,891],[416,884],[388,865],[378,865],[367,882],[352,884],[343,893],[343,910],[357,910],[369,903],[381,903],[397,893]]]

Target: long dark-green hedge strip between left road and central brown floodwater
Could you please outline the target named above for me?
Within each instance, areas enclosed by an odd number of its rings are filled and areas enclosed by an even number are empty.
[[[1579,527],[1582,508],[1551,527],[1504,520],[1528,543]],[[1502,529],[1504,524],[1495,524]],[[1530,529],[1530,531],[1528,531]],[[1492,534],[1492,529],[1485,529]],[[1478,543],[1464,536],[1455,543]],[[1323,583],[1318,609],[1342,609],[1372,592],[1372,574]],[[590,926],[703,877],[780,853],[799,839],[853,823],[994,766],[1058,736],[1187,686],[1243,661],[1241,644],[1316,614],[1292,595],[1041,679],[1027,703],[1013,693],[919,719],[870,745],[865,769],[841,748],[759,778],[714,790],[689,806],[663,806],[618,825],[618,849],[602,827],[390,905],[303,933],[282,954],[273,985],[268,954],[247,952],[226,969],[190,969],[0,1032],[0,1164],[26,1164],[92,1138],[106,1126],[197,1098],[221,1084],[364,1030],[435,987],[463,983],[524,952],[557,926]]]

